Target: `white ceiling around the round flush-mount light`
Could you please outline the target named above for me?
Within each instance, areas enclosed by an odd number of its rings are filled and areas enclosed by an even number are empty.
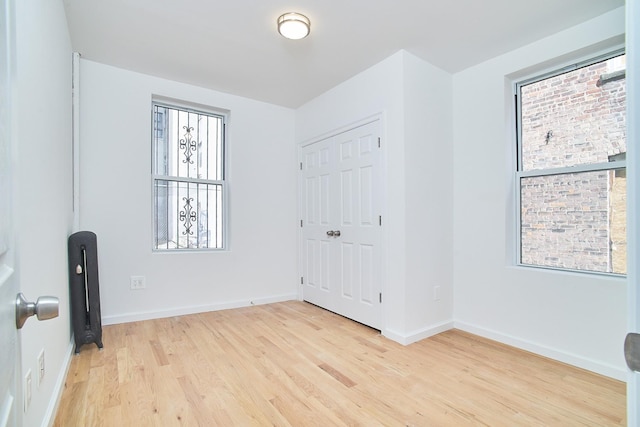
[[[454,73],[624,0],[64,0],[83,58],[298,107],[400,49]],[[286,40],[284,12],[311,19]]]

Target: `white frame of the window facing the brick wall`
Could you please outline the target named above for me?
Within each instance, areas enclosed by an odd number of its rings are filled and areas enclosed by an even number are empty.
[[[592,56],[589,59],[585,59],[576,63],[572,63],[570,65],[557,68],[553,71],[545,72],[542,74],[535,75],[533,77],[526,78],[524,80],[520,80],[515,82],[513,86],[513,99],[515,100],[515,113],[516,113],[516,136],[515,136],[515,144],[516,144],[516,162],[515,162],[515,183],[514,183],[514,196],[515,196],[515,218],[516,218],[516,229],[515,229],[515,237],[516,237],[516,260],[515,263],[519,267],[533,268],[533,269],[545,269],[545,270],[556,270],[562,272],[571,272],[571,273],[579,273],[579,274],[589,274],[596,276],[610,276],[610,277],[626,277],[626,274],[620,273],[612,273],[612,272],[600,272],[600,271],[591,271],[591,270],[581,270],[581,269],[571,269],[571,268],[562,268],[555,266],[547,266],[547,265],[536,265],[536,264],[525,264],[522,262],[522,204],[521,204],[521,181],[523,178],[530,177],[544,177],[544,176],[558,176],[562,174],[576,174],[582,172],[596,172],[596,171],[615,171],[618,169],[625,169],[627,167],[626,160],[618,160],[614,162],[607,163],[594,163],[588,165],[576,165],[576,166],[568,166],[568,167],[559,167],[559,168],[549,168],[549,169],[535,169],[523,171],[523,159],[522,159],[522,106],[521,106],[521,95],[520,88],[526,86],[531,83],[535,83],[538,81],[542,81],[545,79],[549,79],[561,74],[565,74],[579,68],[588,67],[592,64],[606,61],[608,59],[614,58],[616,56],[620,56],[625,53],[624,48],[616,49],[601,55]],[[627,118],[628,119],[628,118]]]

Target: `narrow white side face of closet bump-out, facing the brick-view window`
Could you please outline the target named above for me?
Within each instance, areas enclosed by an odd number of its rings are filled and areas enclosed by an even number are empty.
[[[450,74],[404,61],[405,328],[420,336],[453,318],[453,87]]]

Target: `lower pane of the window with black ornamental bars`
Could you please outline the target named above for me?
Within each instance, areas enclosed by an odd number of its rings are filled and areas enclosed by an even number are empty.
[[[222,248],[223,186],[156,180],[155,249]]]

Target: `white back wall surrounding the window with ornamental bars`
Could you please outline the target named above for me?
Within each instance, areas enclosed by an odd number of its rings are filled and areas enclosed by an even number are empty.
[[[105,324],[296,298],[293,110],[88,60],[80,88],[80,227],[98,236]],[[228,251],[151,251],[152,95],[230,110]]]

